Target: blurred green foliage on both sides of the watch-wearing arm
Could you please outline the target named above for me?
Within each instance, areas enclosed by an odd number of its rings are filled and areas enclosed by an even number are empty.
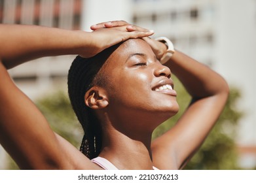
[[[175,122],[177,122],[187,105],[189,105],[189,94],[185,91],[185,88],[183,88],[177,78],[174,80],[176,84],[175,90],[179,93],[177,101],[180,110],[173,118],[167,120],[155,130],[153,138],[158,137],[158,135],[161,135],[175,125]],[[238,90],[231,88],[227,105],[219,117],[217,124],[213,127],[210,135],[208,135],[198,152],[194,154],[185,169],[239,169],[236,164],[238,154],[234,142],[236,137],[236,124],[238,124],[238,121],[242,117],[242,112],[235,108],[239,98],[240,93]]]

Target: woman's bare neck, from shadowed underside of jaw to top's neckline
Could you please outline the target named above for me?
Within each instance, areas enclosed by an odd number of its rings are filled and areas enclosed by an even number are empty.
[[[152,169],[151,136],[155,123],[148,118],[101,113],[102,150],[118,169]]]

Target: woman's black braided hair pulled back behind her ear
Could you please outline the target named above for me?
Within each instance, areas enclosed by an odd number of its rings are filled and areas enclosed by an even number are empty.
[[[103,75],[107,59],[121,43],[111,46],[92,58],[77,56],[69,69],[67,86],[69,99],[77,119],[84,130],[80,151],[89,159],[99,156],[102,129],[94,110],[84,103],[84,95],[93,86],[106,86],[109,80]]]

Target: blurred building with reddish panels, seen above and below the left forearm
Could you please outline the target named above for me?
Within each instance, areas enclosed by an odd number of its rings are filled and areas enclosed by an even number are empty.
[[[0,22],[33,24],[63,29],[80,29],[81,0],[8,0],[0,1]],[[29,97],[42,95],[52,86],[60,86],[74,56],[43,58],[10,69],[16,84]],[[41,60],[41,59],[40,59]]]

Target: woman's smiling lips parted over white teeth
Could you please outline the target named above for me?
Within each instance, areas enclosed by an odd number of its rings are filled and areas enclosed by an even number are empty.
[[[152,90],[154,92],[177,96],[177,92],[174,90],[174,83],[171,79],[160,80]]]

